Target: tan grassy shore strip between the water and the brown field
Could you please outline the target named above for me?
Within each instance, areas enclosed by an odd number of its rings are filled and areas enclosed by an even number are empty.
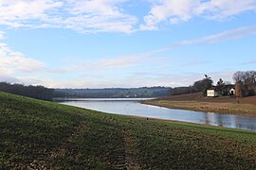
[[[213,103],[201,101],[173,101],[153,99],[142,101],[142,104],[157,107],[176,109],[176,110],[194,110],[203,112],[214,112],[220,114],[235,114],[256,116],[256,105],[250,104],[234,104],[234,103]]]

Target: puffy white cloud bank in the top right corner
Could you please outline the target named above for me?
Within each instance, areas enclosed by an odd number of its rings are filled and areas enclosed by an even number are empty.
[[[153,7],[144,17],[141,30],[157,29],[159,24],[186,22],[199,16],[213,20],[240,14],[247,10],[256,10],[255,0],[154,0]]]

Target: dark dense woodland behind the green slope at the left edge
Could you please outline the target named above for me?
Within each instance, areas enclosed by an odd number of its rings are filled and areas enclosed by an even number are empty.
[[[31,98],[51,101],[53,98],[54,89],[48,89],[44,86],[25,86],[23,84],[0,82],[0,92],[14,93]]]

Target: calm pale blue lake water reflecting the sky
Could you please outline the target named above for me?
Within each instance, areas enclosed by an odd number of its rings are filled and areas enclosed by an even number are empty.
[[[138,98],[80,98],[59,101],[64,105],[109,113],[136,115],[218,127],[256,130],[256,117],[192,110],[173,110],[141,104]]]

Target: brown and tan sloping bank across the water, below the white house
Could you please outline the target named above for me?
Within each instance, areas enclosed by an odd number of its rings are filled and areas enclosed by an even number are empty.
[[[243,97],[236,103],[235,97],[202,97],[200,93],[181,94],[144,101],[144,104],[180,110],[199,110],[256,116],[256,96]]]

